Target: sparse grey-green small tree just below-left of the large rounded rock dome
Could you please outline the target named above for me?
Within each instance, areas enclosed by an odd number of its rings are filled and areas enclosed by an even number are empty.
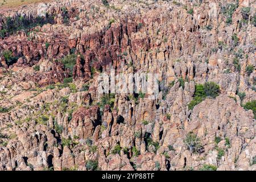
[[[193,133],[188,133],[183,142],[188,147],[191,155],[193,152],[197,152],[202,148],[200,138],[196,137]]]

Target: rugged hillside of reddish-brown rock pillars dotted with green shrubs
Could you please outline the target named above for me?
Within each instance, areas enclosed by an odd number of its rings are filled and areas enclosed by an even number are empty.
[[[0,9],[0,170],[255,171],[255,8],[56,0]],[[158,97],[99,93],[110,67],[158,73]]]

